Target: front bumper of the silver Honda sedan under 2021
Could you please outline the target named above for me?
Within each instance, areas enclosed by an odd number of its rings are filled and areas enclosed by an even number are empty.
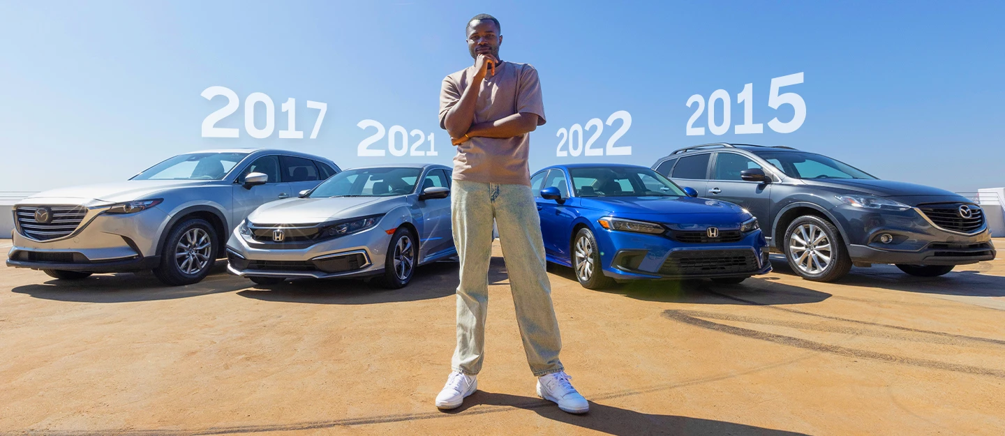
[[[242,277],[377,275],[384,272],[390,242],[391,235],[380,226],[303,247],[248,240],[235,229],[227,241],[227,271]]]

